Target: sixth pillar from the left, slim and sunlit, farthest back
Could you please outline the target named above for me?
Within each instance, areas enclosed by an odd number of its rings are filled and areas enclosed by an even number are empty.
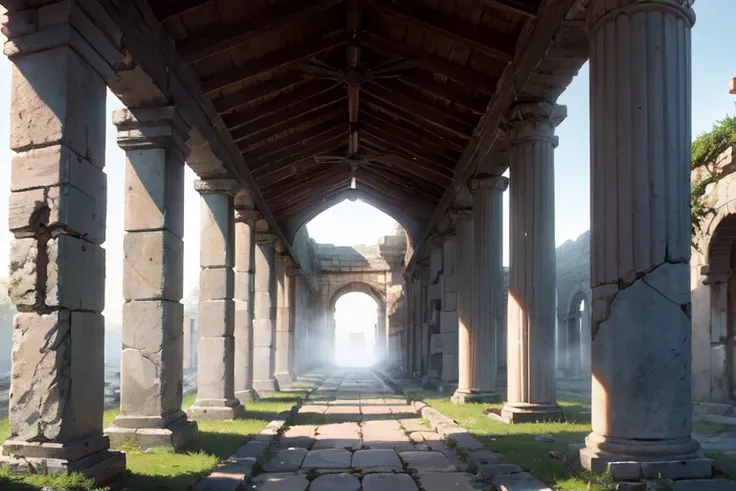
[[[288,390],[294,381],[294,281],[298,269],[278,243],[276,259],[276,366],[279,390]]]

